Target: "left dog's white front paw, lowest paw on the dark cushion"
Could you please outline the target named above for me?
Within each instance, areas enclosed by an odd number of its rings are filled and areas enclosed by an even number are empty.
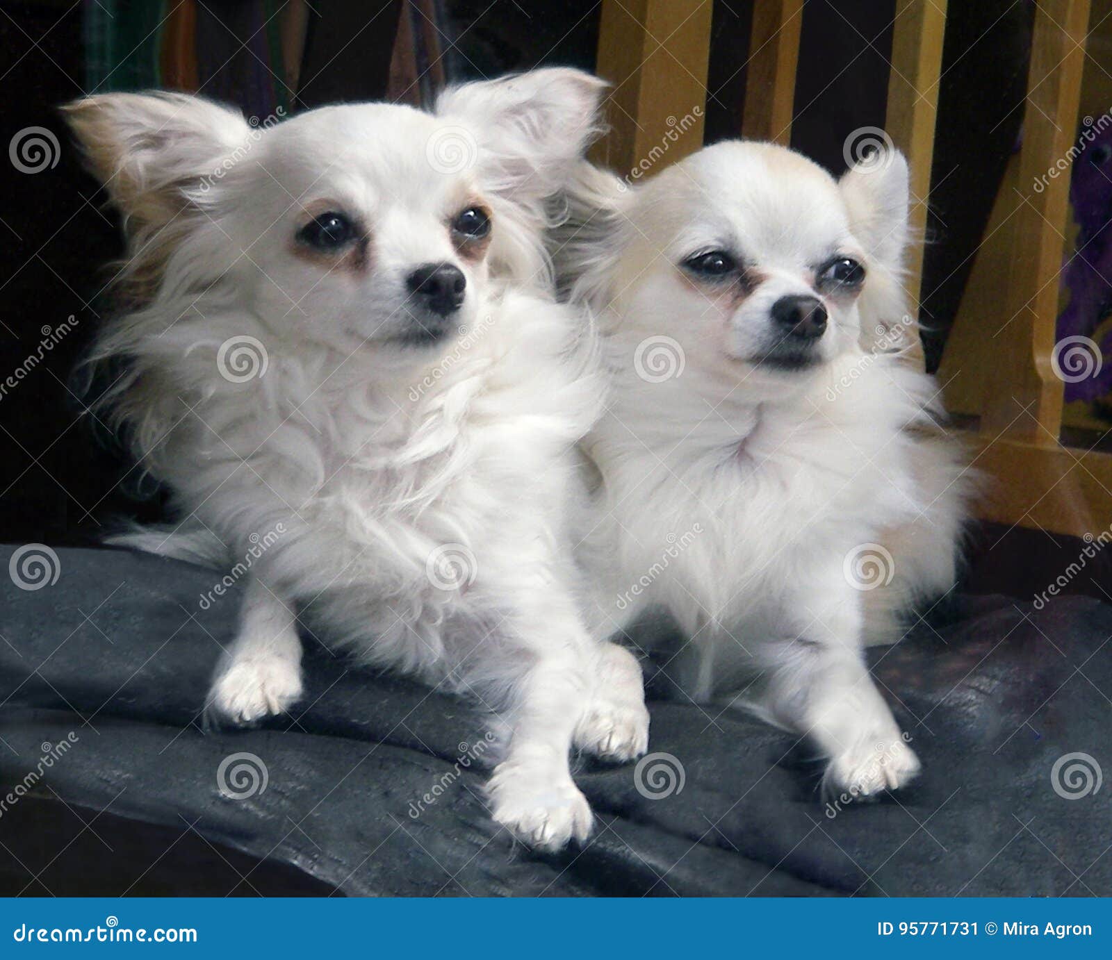
[[[590,836],[590,804],[566,773],[538,776],[512,762],[499,763],[487,791],[495,821],[534,849],[555,852]]]

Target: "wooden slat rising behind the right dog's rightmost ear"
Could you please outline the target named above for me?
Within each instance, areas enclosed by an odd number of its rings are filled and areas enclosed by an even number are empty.
[[[939,76],[942,41],[946,28],[946,0],[896,0],[892,27],[892,69],[885,127],[892,142],[903,151],[911,169],[912,236],[922,238],[926,228],[934,159],[934,123],[939,111]],[[919,296],[923,277],[923,246],[916,243],[909,258],[904,288],[919,330]],[[924,363],[919,337],[909,360]]]

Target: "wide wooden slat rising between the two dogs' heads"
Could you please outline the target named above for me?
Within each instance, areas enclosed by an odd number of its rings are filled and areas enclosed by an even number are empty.
[[[604,0],[597,72],[614,86],[596,161],[623,176],[639,169],[639,177],[703,146],[712,7]]]

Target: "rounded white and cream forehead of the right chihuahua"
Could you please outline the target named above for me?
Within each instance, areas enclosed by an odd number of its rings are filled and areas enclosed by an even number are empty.
[[[683,161],[672,179],[683,194],[685,216],[727,233],[756,258],[806,260],[850,234],[834,179],[782,147],[718,143]]]

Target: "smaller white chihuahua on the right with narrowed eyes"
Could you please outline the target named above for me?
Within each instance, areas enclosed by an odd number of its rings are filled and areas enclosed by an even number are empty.
[[[896,152],[835,181],[726,142],[634,189],[584,164],[557,238],[613,380],[586,444],[596,629],[666,608],[688,696],[748,676],[855,796],[919,770],[862,647],[953,584],[965,512],[936,388],[898,356],[907,198]]]

